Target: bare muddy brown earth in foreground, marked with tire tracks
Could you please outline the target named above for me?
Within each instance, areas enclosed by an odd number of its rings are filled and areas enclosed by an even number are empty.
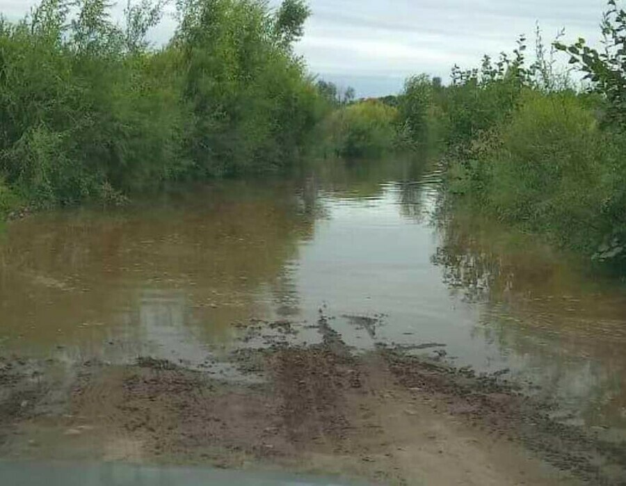
[[[385,347],[351,353],[323,316],[319,331],[318,345],[276,341],[233,353],[262,382],[143,358],[83,363],[64,385],[39,364],[5,359],[0,455],[286,469],[394,485],[626,484],[626,448],[552,421],[549,407],[498,377]]]

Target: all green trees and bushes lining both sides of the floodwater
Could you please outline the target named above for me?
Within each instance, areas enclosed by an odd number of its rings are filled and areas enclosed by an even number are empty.
[[[168,181],[280,170],[306,153],[379,159],[442,149],[448,193],[525,232],[626,261],[626,13],[608,3],[603,51],[584,40],[421,74],[355,100],[316,81],[294,42],[304,0],[42,0],[0,20],[0,216],[23,206],[121,203]],[[534,51],[529,55],[529,51]],[[560,57],[559,57],[560,56]],[[559,68],[569,60],[568,68]],[[584,88],[578,80],[584,75]],[[312,149],[312,150],[310,150]]]

